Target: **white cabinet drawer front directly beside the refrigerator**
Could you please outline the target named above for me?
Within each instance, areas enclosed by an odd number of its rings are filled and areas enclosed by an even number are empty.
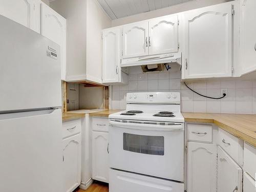
[[[62,138],[81,132],[81,119],[65,121],[62,123]]]

